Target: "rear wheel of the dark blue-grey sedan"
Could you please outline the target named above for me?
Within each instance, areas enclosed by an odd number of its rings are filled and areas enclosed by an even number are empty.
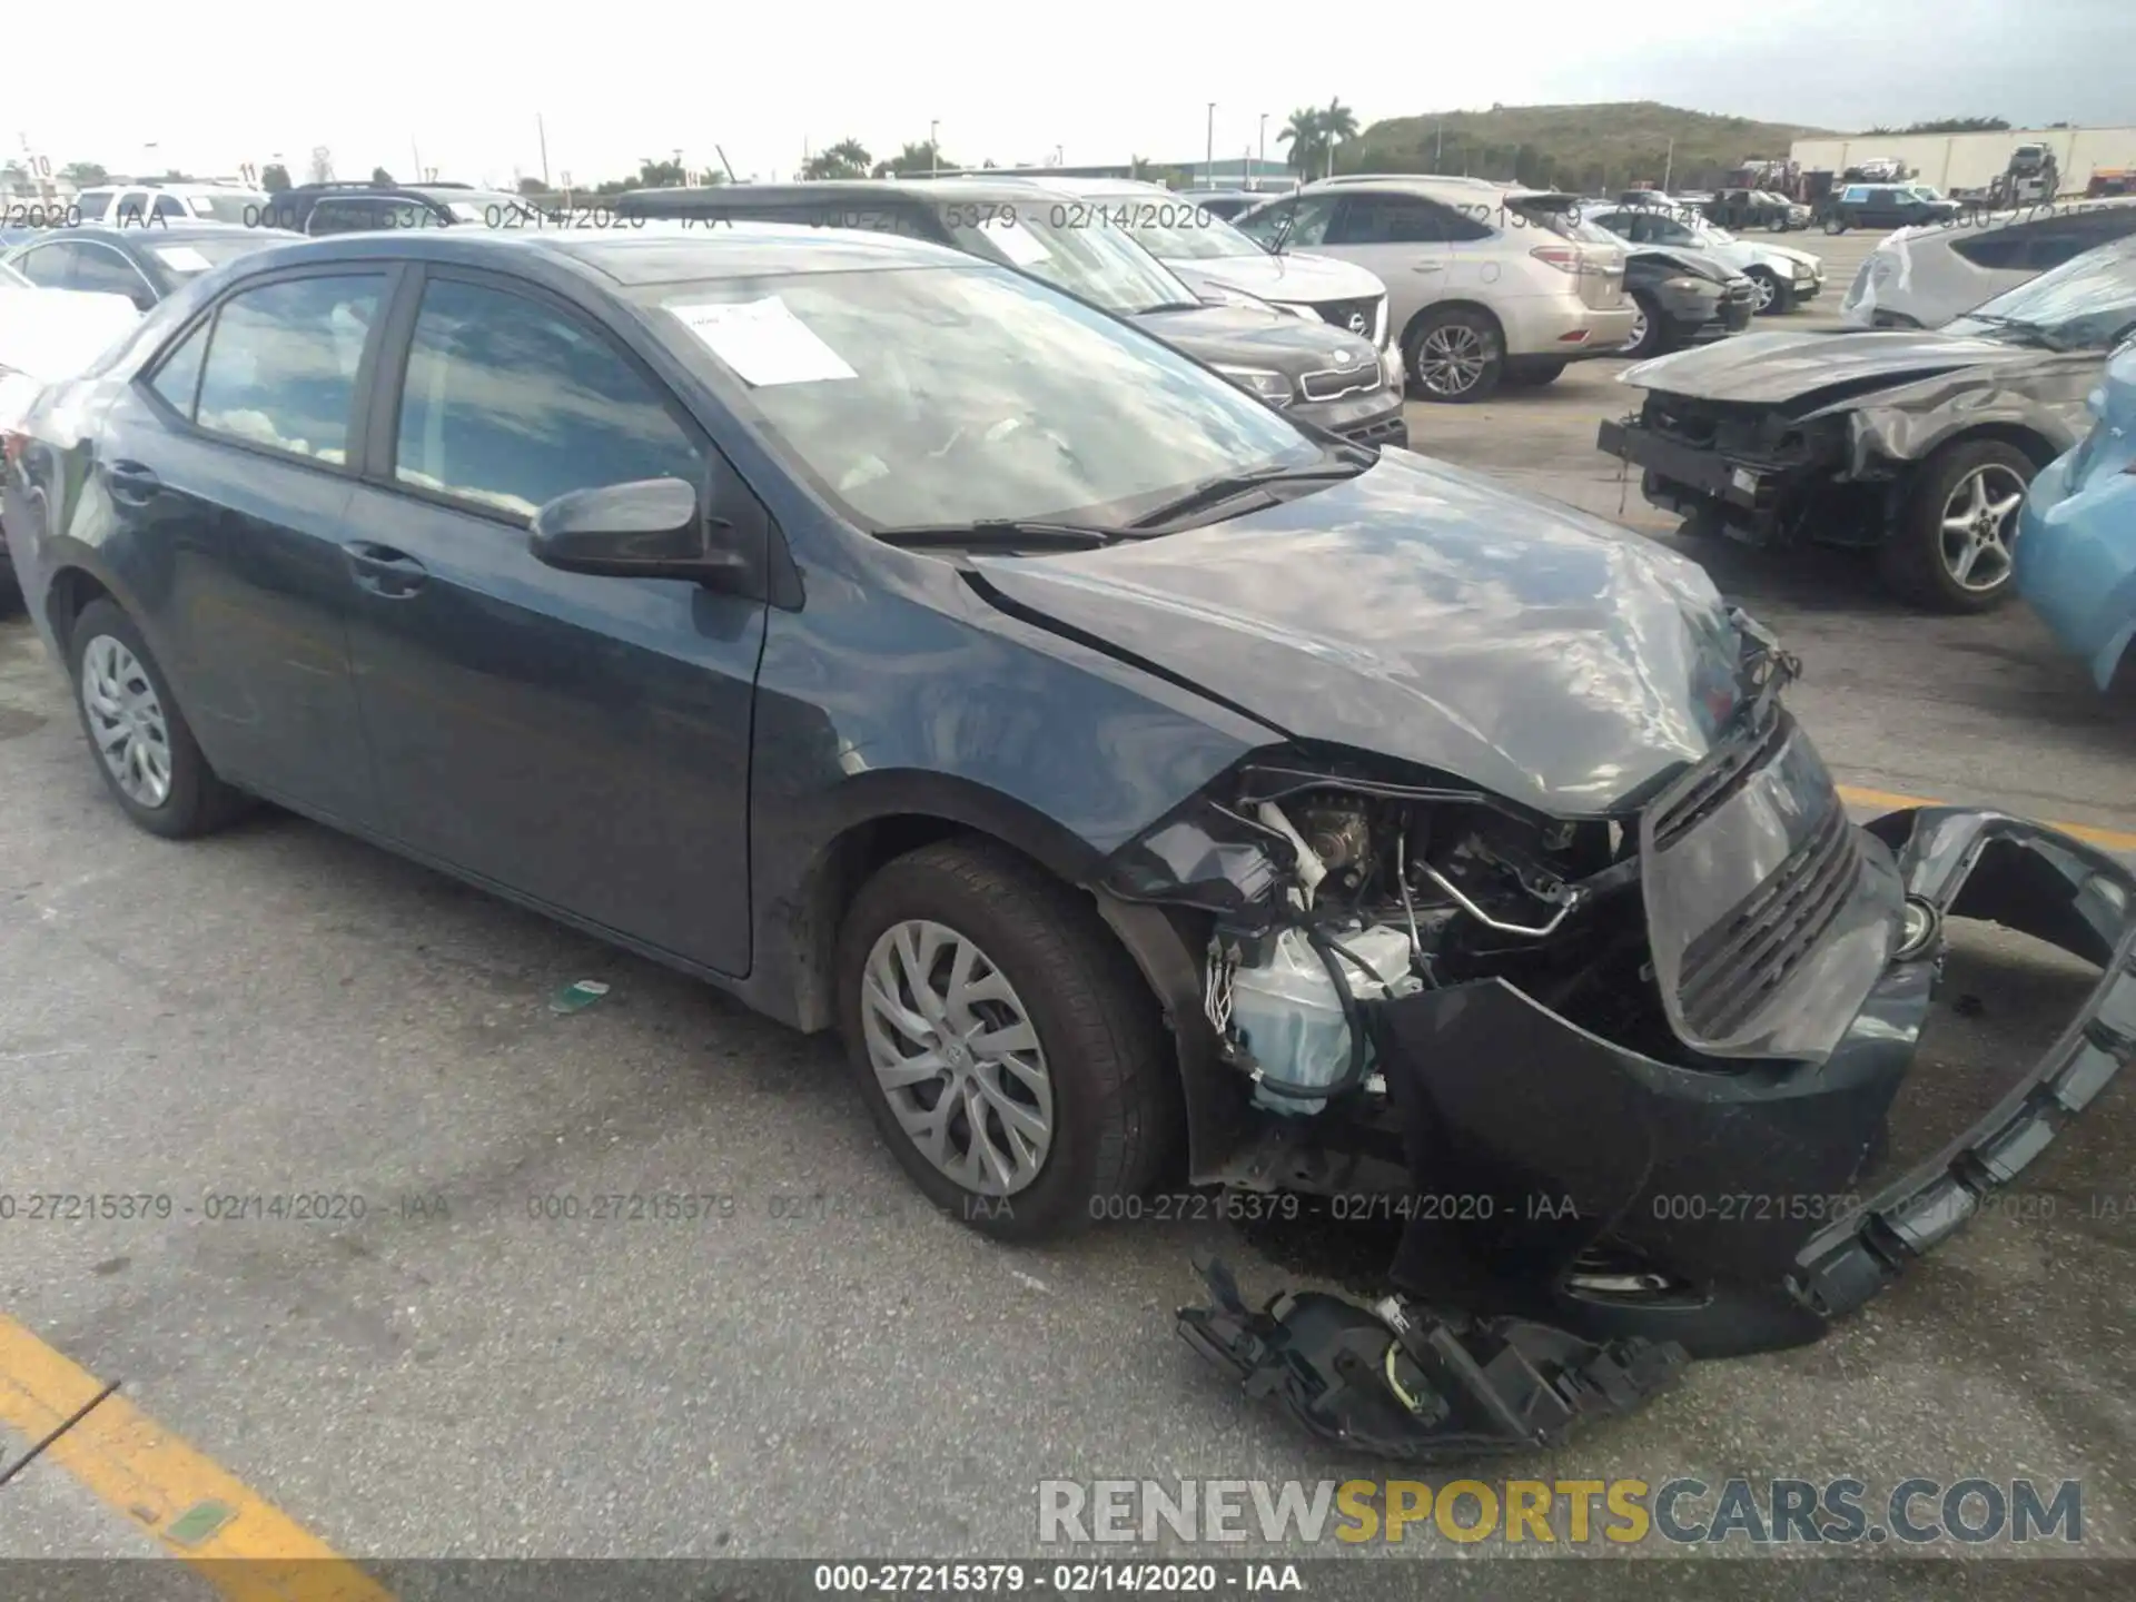
[[[132,617],[92,600],[66,643],[81,733],[128,818],[152,835],[188,839],[246,812],[250,799],[207,765]]]

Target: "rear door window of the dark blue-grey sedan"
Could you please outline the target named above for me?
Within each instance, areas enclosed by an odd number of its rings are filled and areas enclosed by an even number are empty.
[[[290,278],[224,301],[207,342],[199,425],[346,461],[357,367],[384,282],[382,273]]]

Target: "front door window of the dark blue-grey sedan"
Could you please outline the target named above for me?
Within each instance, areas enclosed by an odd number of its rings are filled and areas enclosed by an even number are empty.
[[[408,350],[393,476],[532,517],[572,489],[703,485],[705,457],[596,329],[523,295],[431,280]]]

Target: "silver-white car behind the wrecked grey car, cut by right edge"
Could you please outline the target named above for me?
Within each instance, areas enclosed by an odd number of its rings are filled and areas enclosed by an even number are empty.
[[[1839,320],[1854,329],[1939,329],[2027,278],[2132,233],[2136,197],[1899,229],[1854,273]]]

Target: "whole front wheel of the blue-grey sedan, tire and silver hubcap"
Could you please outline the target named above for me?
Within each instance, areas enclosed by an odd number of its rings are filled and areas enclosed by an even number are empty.
[[[1171,1151],[1149,985],[1087,897],[1002,846],[882,867],[846,914],[837,1006],[882,1138],[972,1228],[1036,1241],[1117,1218]]]

